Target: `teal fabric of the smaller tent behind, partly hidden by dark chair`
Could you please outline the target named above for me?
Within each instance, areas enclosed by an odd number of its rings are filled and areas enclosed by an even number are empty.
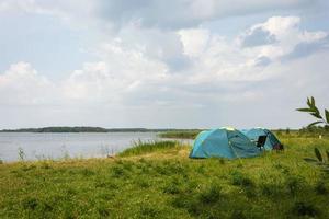
[[[275,135],[265,128],[252,128],[249,130],[242,130],[242,132],[251,140],[257,141],[260,136],[268,136],[264,149],[272,150],[273,146],[282,145]]]

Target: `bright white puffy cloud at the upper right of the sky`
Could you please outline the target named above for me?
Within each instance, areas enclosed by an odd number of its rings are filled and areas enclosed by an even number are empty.
[[[259,30],[262,31],[261,35],[258,34]],[[264,23],[251,26],[238,37],[237,42],[245,46],[245,50],[250,54],[275,61],[293,53],[297,45],[319,42],[327,35],[322,31],[300,30],[300,18],[298,16],[272,16]],[[251,37],[252,44],[249,39]],[[270,42],[270,38],[273,41]]]

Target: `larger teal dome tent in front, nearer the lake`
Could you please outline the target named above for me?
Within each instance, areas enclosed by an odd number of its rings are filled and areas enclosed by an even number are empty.
[[[234,128],[202,131],[194,140],[190,158],[250,158],[261,151],[247,136]]]

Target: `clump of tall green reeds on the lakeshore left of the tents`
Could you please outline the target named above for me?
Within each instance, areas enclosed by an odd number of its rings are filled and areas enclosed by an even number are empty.
[[[147,141],[143,142],[140,140],[135,141],[132,148],[127,148],[117,154],[117,157],[129,157],[129,155],[140,155],[145,153],[151,153],[155,151],[162,151],[167,149],[173,149],[179,147],[178,141]]]

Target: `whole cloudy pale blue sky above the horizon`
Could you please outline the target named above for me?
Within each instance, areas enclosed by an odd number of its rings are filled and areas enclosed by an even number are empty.
[[[0,128],[299,128],[327,0],[0,0]]]

